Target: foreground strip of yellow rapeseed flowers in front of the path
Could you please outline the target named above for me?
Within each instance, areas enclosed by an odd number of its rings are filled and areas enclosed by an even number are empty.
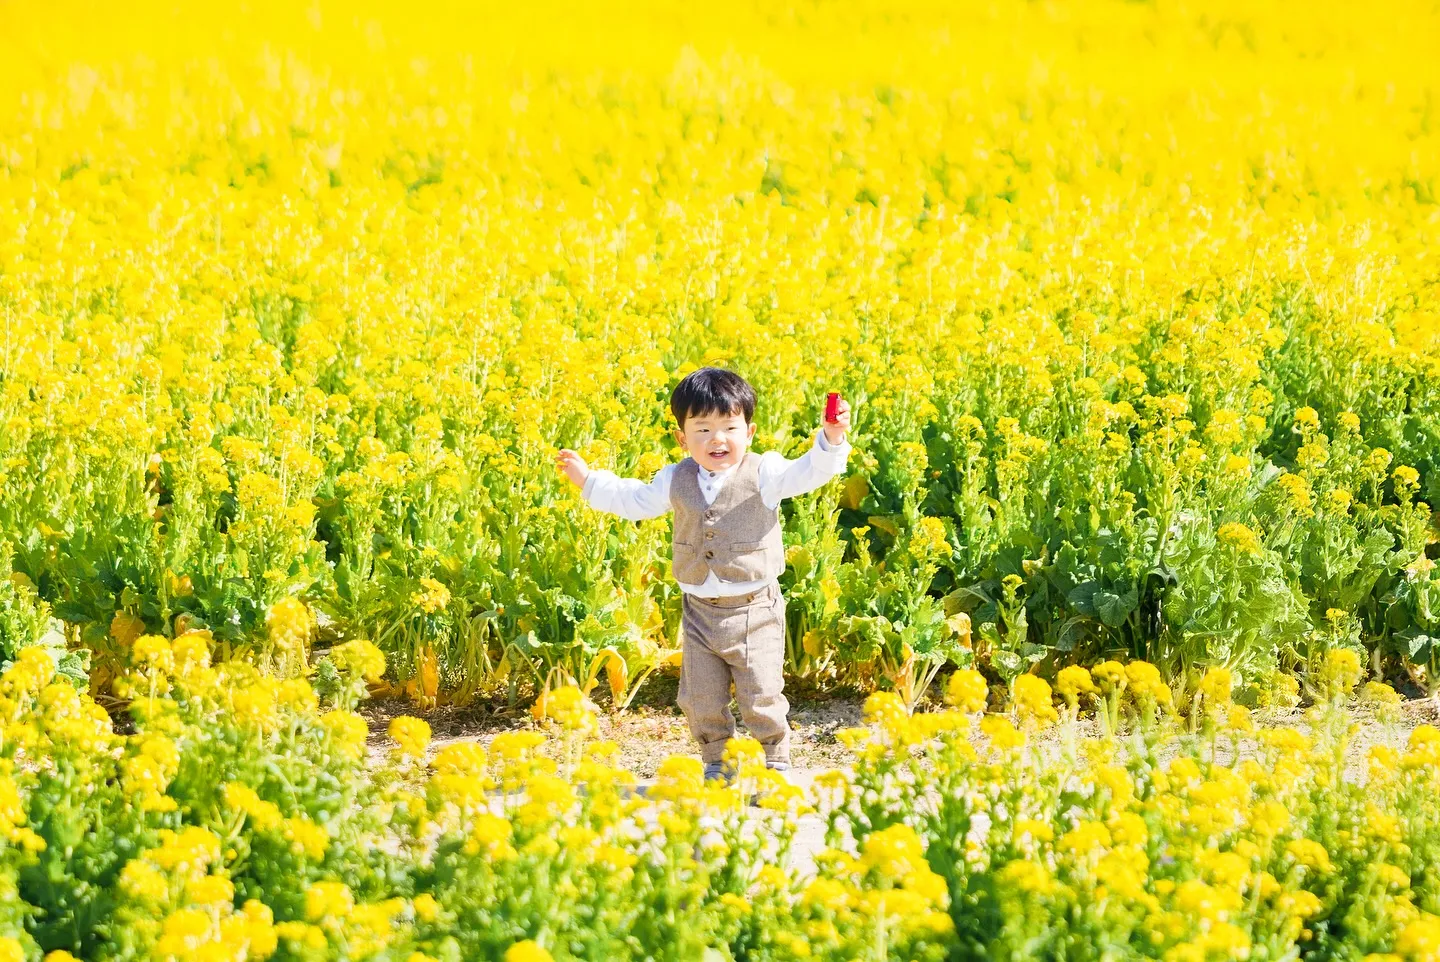
[[[1198,729],[1164,710],[1168,688],[1139,661],[1071,667],[1054,690],[1021,674],[1011,711],[985,714],[978,733],[988,688],[971,670],[948,681],[942,711],[876,693],[864,727],[841,733],[852,763],[816,779],[812,799],[765,769],[753,739],[726,749],[733,785],[675,756],[639,794],[575,685],[543,701],[537,724],[563,733],[553,743],[516,729],[426,762],[429,726],[402,716],[399,750],[367,762],[364,720],[325,707],[308,681],[176,648],[145,670],[157,694],[135,700],[135,733],[111,732],[98,753],[58,737],[88,730],[76,716],[109,726],[53,664],[27,655],[0,678],[0,887],[49,906],[35,925],[52,945],[79,949],[102,930],[124,935],[91,942],[114,945],[99,959],[625,959],[661,946],[704,958],[759,932],[783,962],[880,962],[963,945],[1028,959],[1083,926],[1185,962],[1293,956],[1342,920],[1346,958],[1418,959],[1440,925],[1427,871],[1440,732],[1387,729],[1355,781],[1344,691],[1359,665],[1345,649],[1323,660],[1333,697],[1303,730],[1257,729],[1225,668],[1197,684]],[[1083,734],[1083,697],[1097,714],[1128,706],[1130,732]],[[1364,697],[1395,698],[1380,683]],[[56,798],[105,831],[42,822]],[[786,853],[812,804],[831,848],[799,874]],[[43,884],[73,893],[63,907],[19,871],[40,855]],[[96,867],[111,889],[79,884]],[[649,914],[655,904],[674,922]],[[595,923],[612,910],[661,929]],[[27,933],[6,938],[27,958]]]

